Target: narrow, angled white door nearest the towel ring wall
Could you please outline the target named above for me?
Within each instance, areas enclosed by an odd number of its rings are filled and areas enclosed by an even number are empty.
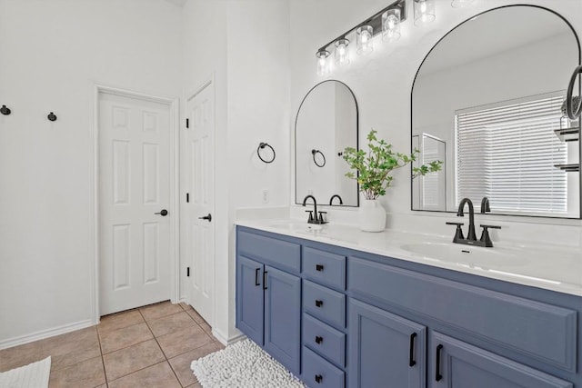
[[[186,102],[186,193],[183,239],[190,263],[187,293],[190,304],[212,324],[214,305],[214,84],[209,83]],[[205,217],[205,218],[201,218]]]

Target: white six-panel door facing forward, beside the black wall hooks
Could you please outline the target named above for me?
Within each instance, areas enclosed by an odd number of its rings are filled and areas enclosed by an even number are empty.
[[[170,106],[102,92],[98,113],[105,315],[170,298]]]

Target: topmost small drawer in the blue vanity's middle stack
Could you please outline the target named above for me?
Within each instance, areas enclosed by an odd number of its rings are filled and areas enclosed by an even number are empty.
[[[346,290],[346,256],[314,248],[303,249],[303,273],[306,278],[336,290]]]

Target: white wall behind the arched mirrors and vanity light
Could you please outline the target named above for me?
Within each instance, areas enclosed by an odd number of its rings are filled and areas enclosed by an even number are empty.
[[[389,2],[383,0],[294,0],[291,2],[291,104],[296,111],[303,95],[321,79],[316,75],[316,50],[349,28],[375,14]],[[582,35],[582,3],[571,0],[529,0],[527,4],[542,5],[565,15]],[[351,45],[352,61],[346,68],[336,69],[332,78],[349,85],[356,95],[360,112],[360,144],[366,144],[366,134],[375,128],[378,135],[394,144],[398,151],[410,149],[410,91],[418,66],[426,53],[450,29],[479,12],[500,5],[524,4],[523,1],[476,0],[467,8],[452,8],[449,0],[436,0],[437,19],[430,25],[414,26],[411,18],[401,26],[401,38],[385,45],[375,39],[375,51],[370,55],[356,56]],[[412,15],[412,1],[407,15]],[[325,23],[322,22],[325,20]],[[382,204],[390,214],[391,227],[423,228],[426,232],[447,234],[444,225],[451,214],[428,214],[410,211],[409,170],[404,168],[394,174],[393,187],[382,198]],[[332,210],[330,210],[330,213]],[[330,214],[330,218],[333,217]],[[582,228],[579,220],[556,221],[550,219],[525,219],[519,217],[494,217],[506,225],[500,236],[530,241],[562,241],[568,235],[574,237],[568,244],[582,244]],[[521,223],[532,222],[531,229]],[[563,225],[555,227],[555,224]],[[528,233],[522,233],[528,231]]]

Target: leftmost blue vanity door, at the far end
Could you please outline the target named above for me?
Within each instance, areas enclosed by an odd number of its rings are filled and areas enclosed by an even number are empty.
[[[263,264],[238,256],[236,265],[236,327],[263,345]]]

